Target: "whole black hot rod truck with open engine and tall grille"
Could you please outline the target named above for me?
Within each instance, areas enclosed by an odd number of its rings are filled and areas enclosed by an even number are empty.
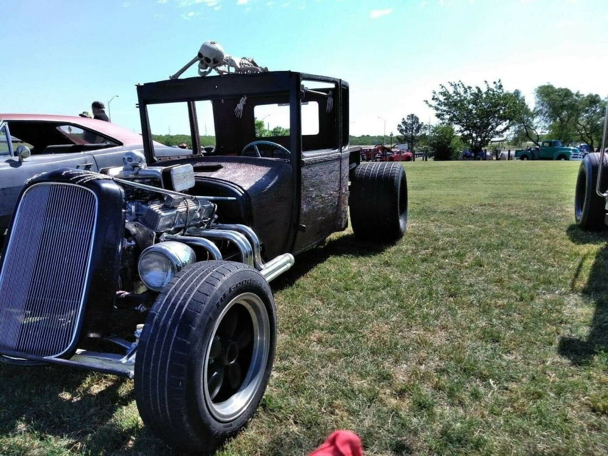
[[[406,229],[401,164],[348,149],[348,84],[289,71],[137,86],[143,153],[101,173],[59,168],[26,183],[0,270],[0,361],[134,378],[146,426],[213,451],[252,416],[277,342],[268,283],[348,225]],[[197,102],[216,147],[199,153]],[[150,110],[187,113],[192,151],[156,157]],[[258,139],[254,110],[288,109],[286,136]],[[302,106],[318,106],[302,134]],[[164,126],[167,123],[163,123]],[[350,183],[350,187],[349,187]],[[350,191],[350,197],[349,197]]]

